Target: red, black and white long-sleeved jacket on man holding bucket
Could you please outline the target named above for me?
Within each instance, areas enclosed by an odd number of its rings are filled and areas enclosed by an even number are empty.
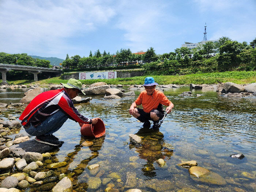
[[[22,125],[31,123],[33,126],[39,125],[47,117],[52,114],[63,110],[67,116],[78,122],[91,124],[92,120],[84,117],[74,107],[71,98],[68,96],[64,88],[45,91],[37,95],[23,111],[19,119],[21,120]]]

